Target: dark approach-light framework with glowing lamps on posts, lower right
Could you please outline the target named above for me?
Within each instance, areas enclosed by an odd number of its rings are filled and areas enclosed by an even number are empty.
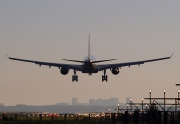
[[[126,109],[120,109],[119,104],[115,109],[118,118],[124,124],[129,122],[135,124],[180,124],[180,90],[177,90],[177,97],[167,98],[164,89],[163,97],[155,98],[152,97],[150,89],[148,98],[141,99],[139,103],[134,103],[133,99],[130,99],[126,105]],[[110,114],[110,116],[115,118],[114,114]]]

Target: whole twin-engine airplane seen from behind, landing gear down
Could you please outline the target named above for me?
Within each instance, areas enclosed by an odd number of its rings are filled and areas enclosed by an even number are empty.
[[[104,74],[102,75],[102,82],[103,81],[107,82],[108,81],[108,76],[106,75],[106,70],[107,69],[110,69],[112,74],[117,75],[117,74],[119,74],[119,72],[120,72],[119,69],[121,67],[125,67],[125,66],[130,67],[132,65],[139,65],[140,66],[141,64],[148,63],[148,62],[154,62],[154,61],[159,61],[159,60],[170,59],[172,57],[172,55],[169,56],[169,57],[157,58],[157,59],[149,59],[149,60],[143,60],[143,61],[115,63],[115,64],[99,64],[99,65],[97,65],[97,63],[113,61],[113,60],[116,60],[116,59],[107,59],[107,60],[96,61],[94,59],[94,57],[90,54],[90,34],[89,34],[89,38],[88,38],[88,56],[87,56],[87,58],[84,59],[84,61],[62,59],[62,60],[65,60],[65,61],[81,63],[81,65],[63,64],[63,63],[50,63],[50,62],[41,62],[41,61],[33,61],[33,60],[12,58],[12,57],[8,57],[8,55],[6,54],[6,56],[11,60],[35,63],[35,64],[39,65],[40,67],[41,67],[41,65],[49,66],[49,68],[51,68],[51,66],[52,67],[58,67],[60,69],[60,73],[62,75],[67,75],[69,70],[72,69],[72,70],[74,70],[74,75],[72,75],[72,82],[74,82],[74,81],[78,82],[78,75],[76,74],[77,71],[80,71],[82,73],[87,73],[89,75],[92,75],[93,73],[98,73],[99,71],[103,71]]]

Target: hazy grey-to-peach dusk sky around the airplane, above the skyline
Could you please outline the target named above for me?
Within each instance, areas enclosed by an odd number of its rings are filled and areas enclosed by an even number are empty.
[[[0,103],[50,105],[72,97],[79,102],[132,97],[139,102],[149,89],[154,97],[163,97],[163,89],[168,97],[177,97],[179,5],[178,0],[1,0]],[[57,63],[83,60],[89,33],[97,60],[121,63],[175,54],[170,60],[124,67],[119,75],[108,70],[108,82],[101,82],[102,72],[78,72],[79,82],[72,82],[72,70],[63,76],[58,68],[11,61],[4,54]]]

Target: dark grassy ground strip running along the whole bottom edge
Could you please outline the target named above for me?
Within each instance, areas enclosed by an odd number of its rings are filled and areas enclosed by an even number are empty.
[[[0,114],[0,124],[180,124],[180,114],[176,116],[164,116],[161,114],[136,115],[134,114],[105,114],[106,116],[93,116],[90,114],[64,114],[57,116],[48,115],[27,115],[27,114]],[[172,113],[169,113],[172,114]],[[159,115],[159,116],[157,116]]]

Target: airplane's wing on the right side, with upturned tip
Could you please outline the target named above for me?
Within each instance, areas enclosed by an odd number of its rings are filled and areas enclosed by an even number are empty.
[[[172,57],[172,55],[170,57],[164,57],[164,58],[157,58],[157,59],[150,59],[150,60],[143,60],[143,61],[136,61],[136,62],[116,63],[116,64],[103,64],[103,65],[98,65],[98,66],[99,66],[99,71],[110,69],[110,68],[121,68],[124,66],[130,67],[131,65],[141,65],[141,64],[144,64],[147,62],[154,62],[154,61],[170,59]]]

